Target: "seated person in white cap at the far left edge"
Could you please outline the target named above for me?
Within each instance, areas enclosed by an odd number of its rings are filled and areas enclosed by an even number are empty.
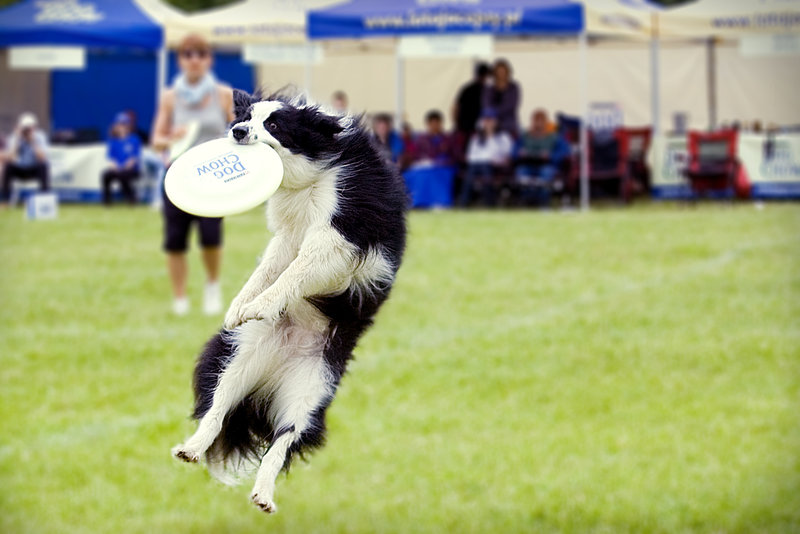
[[[50,190],[50,169],[47,160],[47,136],[39,129],[36,115],[23,113],[17,127],[8,138],[8,149],[2,155],[3,197],[7,202],[11,196],[11,181],[37,180],[42,191]]]

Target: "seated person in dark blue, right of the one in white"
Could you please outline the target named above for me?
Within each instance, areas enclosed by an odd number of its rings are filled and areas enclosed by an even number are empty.
[[[515,180],[522,201],[548,205],[558,166],[569,155],[569,145],[552,127],[544,109],[531,114],[530,127],[520,136],[514,149],[517,164]]]

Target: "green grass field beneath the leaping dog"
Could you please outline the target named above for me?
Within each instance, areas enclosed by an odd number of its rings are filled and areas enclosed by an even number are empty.
[[[170,457],[220,317],[159,216],[0,211],[0,531],[800,532],[800,206],[413,213],[275,516]],[[226,223],[230,299],[267,240]]]

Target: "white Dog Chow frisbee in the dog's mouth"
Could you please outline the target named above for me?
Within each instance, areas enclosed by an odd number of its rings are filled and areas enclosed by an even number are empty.
[[[269,145],[239,145],[228,138],[190,148],[164,178],[173,204],[201,217],[224,217],[253,209],[283,179],[283,163]]]

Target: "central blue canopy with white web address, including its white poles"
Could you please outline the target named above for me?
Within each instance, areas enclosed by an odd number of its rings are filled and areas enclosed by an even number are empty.
[[[582,115],[586,114],[586,34],[583,5],[569,0],[470,0],[430,2],[351,0],[308,13],[310,39],[360,39],[405,35],[490,33],[493,35],[578,35],[582,63]],[[397,61],[397,107],[402,114],[402,61]],[[586,121],[581,121],[586,154]],[[588,164],[581,158],[581,206],[589,205]]]

